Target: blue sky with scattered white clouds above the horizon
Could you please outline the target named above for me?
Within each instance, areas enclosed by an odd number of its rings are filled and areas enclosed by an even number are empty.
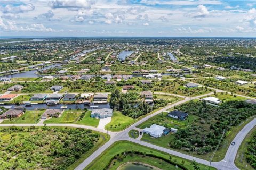
[[[255,35],[255,0],[0,0],[0,36]]]

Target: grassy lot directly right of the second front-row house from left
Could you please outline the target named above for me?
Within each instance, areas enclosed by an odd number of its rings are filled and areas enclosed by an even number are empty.
[[[75,123],[83,110],[66,110],[59,118],[50,118],[45,120],[44,123]]]

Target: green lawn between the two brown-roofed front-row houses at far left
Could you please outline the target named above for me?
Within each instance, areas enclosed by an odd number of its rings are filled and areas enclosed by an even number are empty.
[[[2,124],[12,123],[38,123],[44,111],[26,111],[18,118],[11,118],[11,120],[4,120]]]

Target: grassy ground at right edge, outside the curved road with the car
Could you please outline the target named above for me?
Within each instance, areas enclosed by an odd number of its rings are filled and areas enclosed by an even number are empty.
[[[250,141],[250,138],[253,135],[253,132],[256,131],[256,127],[254,127],[244,138],[242,144],[240,145],[238,152],[236,154],[235,164],[241,170],[253,170],[254,168],[246,162],[246,151],[247,151],[247,142]]]

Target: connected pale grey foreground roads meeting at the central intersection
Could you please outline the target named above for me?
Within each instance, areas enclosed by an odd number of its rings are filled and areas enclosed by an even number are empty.
[[[222,90],[218,90],[218,89],[216,89],[216,90],[217,90],[217,92],[222,91]],[[162,93],[157,93],[157,94],[162,94]],[[163,93],[163,94],[166,94],[166,93]],[[212,94],[213,94],[213,92],[211,92],[209,94],[204,94],[204,95],[201,95],[201,96],[185,98],[184,100],[178,101],[177,103],[174,103],[174,104],[175,105],[180,105],[180,104],[185,103],[189,100],[199,99],[201,97],[212,95]],[[180,96],[180,95],[176,95],[176,94],[166,94],[166,95],[174,95],[174,96],[184,97],[184,96]],[[76,167],[76,170],[84,169],[87,165],[89,165],[91,162],[93,162],[93,160],[95,158],[97,158],[103,151],[105,151],[108,147],[110,147],[114,142],[119,141],[119,140],[131,141],[131,142],[143,145],[143,146],[147,146],[149,148],[153,148],[153,149],[156,149],[156,150],[166,152],[168,154],[176,155],[176,156],[179,156],[181,158],[188,159],[188,160],[196,160],[196,162],[198,162],[198,163],[209,165],[210,162],[207,161],[207,160],[196,158],[196,157],[186,155],[186,154],[182,154],[178,151],[174,151],[174,150],[171,150],[171,149],[159,147],[159,146],[153,145],[151,143],[147,143],[147,142],[140,141],[138,139],[133,139],[133,138],[129,137],[128,132],[131,129],[136,128],[137,125],[141,124],[142,122],[147,121],[149,118],[151,118],[151,117],[153,117],[153,116],[155,116],[155,115],[157,115],[157,114],[159,114],[163,111],[166,111],[167,109],[170,109],[174,104],[166,106],[165,108],[160,109],[159,111],[156,111],[155,113],[150,114],[147,117],[142,118],[141,120],[135,122],[134,124],[132,124],[131,126],[129,126],[128,128],[126,128],[125,130],[123,130],[121,132],[108,131],[108,134],[111,137],[110,140],[107,143],[105,143],[105,145],[101,146],[98,150],[93,152],[93,154],[91,154],[87,159],[85,159],[80,165],[78,165]],[[0,127],[6,127],[6,126],[44,126],[44,124],[0,124]],[[91,130],[94,130],[94,131],[107,133],[107,130],[94,128],[92,126],[79,125],[79,124],[46,124],[46,126],[68,126],[68,127],[75,127],[75,128],[91,129]],[[236,135],[236,137],[234,139],[234,141],[236,141],[236,145],[234,145],[234,146],[230,145],[230,147],[228,148],[228,151],[226,153],[225,158],[223,160],[221,160],[220,162],[212,162],[211,165],[213,167],[215,167],[217,169],[221,169],[221,170],[238,169],[234,164],[236,153],[237,153],[238,148],[241,145],[243,139],[246,137],[247,133],[249,133],[252,130],[252,128],[254,126],[256,126],[256,118],[254,118],[254,120],[249,122],[247,125],[244,126],[244,128],[240,132],[238,132],[238,134]]]

